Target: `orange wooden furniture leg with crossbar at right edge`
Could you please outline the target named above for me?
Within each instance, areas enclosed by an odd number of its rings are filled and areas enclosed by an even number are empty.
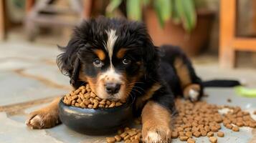
[[[256,51],[256,38],[236,36],[237,0],[220,1],[219,64],[234,68],[236,51]]]

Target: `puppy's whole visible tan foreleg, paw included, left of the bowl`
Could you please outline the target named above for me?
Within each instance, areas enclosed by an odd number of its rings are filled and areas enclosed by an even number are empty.
[[[49,106],[30,113],[26,121],[27,126],[32,129],[45,129],[59,124],[58,104],[60,99],[61,97],[58,97]]]

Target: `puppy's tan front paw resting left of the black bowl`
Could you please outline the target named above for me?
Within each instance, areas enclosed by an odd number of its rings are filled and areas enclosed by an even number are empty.
[[[57,112],[41,109],[29,114],[26,124],[31,129],[47,129],[59,124],[59,115]]]

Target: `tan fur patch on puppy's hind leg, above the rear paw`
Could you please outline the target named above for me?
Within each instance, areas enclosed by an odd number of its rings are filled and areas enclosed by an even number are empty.
[[[191,79],[189,75],[189,69],[181,58],[176,58],[174,61],[174,68],[181,81],[181,88],[184,89],[187,85],[191,84]]]

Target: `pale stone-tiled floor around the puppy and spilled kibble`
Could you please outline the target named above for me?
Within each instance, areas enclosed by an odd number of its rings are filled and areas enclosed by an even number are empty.
[[[78,134],[65,125],[52,129],[32,130],[24,124],[27,114],[39,109],[56,96],[70,90],[69,79],[54,64],[60,51],[57,46],[32,44],[27,41],[0,43],[0,142],[105,142],[105,137]],[[256,69],[219,69],[215,59],[194,59],[202,79],[236,78],[256,87]],[[256,99],[237,97],[233,89],[207,89],[205,100],[214,104],[232,104],[243,109],[256,109]],[[250,130],[227,134],[219,142],[248,142]],[[199,141],[208,142],[207,138]],[[175,142],[179,142],[175,140]]]

